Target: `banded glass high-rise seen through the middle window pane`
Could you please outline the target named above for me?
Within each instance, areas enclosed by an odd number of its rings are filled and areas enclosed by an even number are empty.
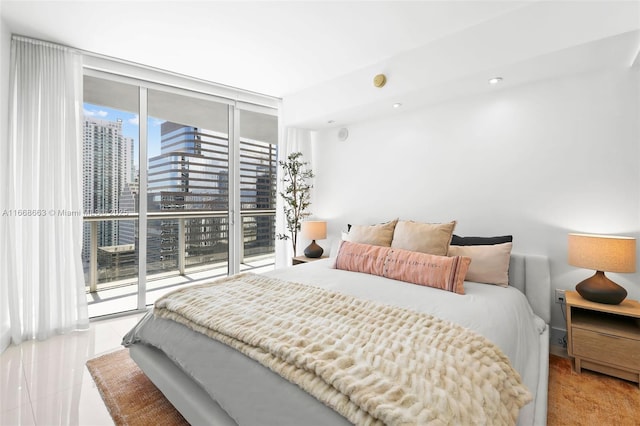
[[[160,155],[149,159],[149,211],[227,211],[229,147],[226,136],[165,121],[160,137]],[[227,231],[226,216],[186,219],[187,263],[206,264],[226,259]],[[160,248],[159,253],[148,254],[148,268],[153,269],[149,261],[177,262],[177,221],[150,222],[148,233],[159,239]]]

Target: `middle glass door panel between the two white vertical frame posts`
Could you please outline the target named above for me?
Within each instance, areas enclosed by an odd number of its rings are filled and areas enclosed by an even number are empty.
[[[202,269],[226,275],[229,105],[147,93],[147,281]]]

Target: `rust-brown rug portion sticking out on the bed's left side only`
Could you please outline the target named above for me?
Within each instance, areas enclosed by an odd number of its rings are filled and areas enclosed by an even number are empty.
[[[116,425],[188,425],[129,357],[129,350],[93,358],[87,368]]]

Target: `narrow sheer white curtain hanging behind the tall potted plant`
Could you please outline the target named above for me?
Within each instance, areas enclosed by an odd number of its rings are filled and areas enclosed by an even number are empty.
[[[287,156],[292,152],[302,152],[302,161],[309,163],[309,167],[313,169],[312,158],[312,139],[313,132],[307,129],[297,129],[294,127],[287,127],[284,131],[283,140],[278,146],[278,160],[284,161]],[[280,168],[278,169],[280,172]],[[282,180],[278,179],[278,194],[282,191]],[[311,211],[313,212],[313,205],[311,205]],[[286,227],[286,221],[284,218],[282,197],[278,195],[276,201],[276,229],[279,234],[288,234]],[[302,244],[298,244],[298,250],[302,251],[304,247]],[[282,268],[291,265],[291,258],[295,256],[293,248],[291,247],[290,240],[276,239],[276,268]]]

